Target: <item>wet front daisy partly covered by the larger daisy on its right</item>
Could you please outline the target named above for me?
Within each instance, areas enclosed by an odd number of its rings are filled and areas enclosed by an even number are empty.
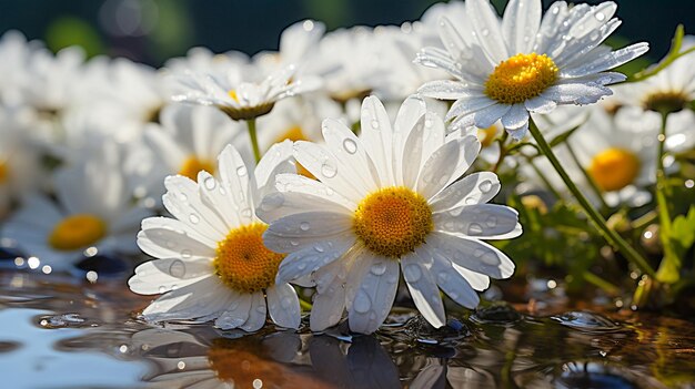
[[[163,203],[174,216],[142,221],[138,245],[157,259],[135,269],[132,291],[164,294],[147,307],[149,321],[214,319],[222,329],[254,331],[266,311],[283,327],[298,328],[299,298],[286,283],[275,285],[284,257],[263,245],[266,228],[254,214],[278,173],[293,172],[292,142],[276,144],[253,172],[228,145],[219,156],[220,180],[198,173],[198,183],[169,176]]]

